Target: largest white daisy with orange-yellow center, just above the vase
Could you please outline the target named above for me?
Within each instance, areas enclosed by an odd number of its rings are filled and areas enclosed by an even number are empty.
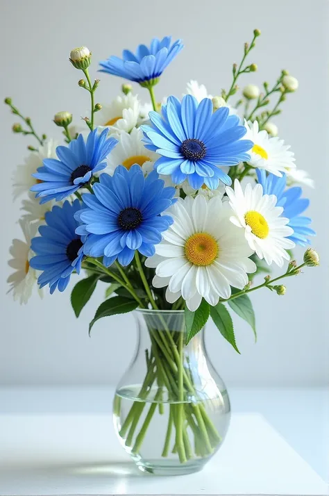
[[[230,297],[230,286],[246,286],[247,272],[256,270],[248,258],[253,251],[243,231],[230,222],[228,203],[203,195],[179,198],[168,214],[174,224],[162,233],[164,239],[145,265],[155,268],[155,288],[168,286],[169,303],[182,296],[187,308],[195,311],[202,298],[214,306],[220,297]]]

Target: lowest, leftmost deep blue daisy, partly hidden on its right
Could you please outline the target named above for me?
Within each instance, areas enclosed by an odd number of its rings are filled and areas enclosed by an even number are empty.
[[[78,222],[74,214],[81,209],[76,199],[73,204],[65,201],[63,206],[54,206],[44,216],[46,226],[40,226],[40,236],[33,238],[31,249],[35,252],[30,260],[33,269],[42,270],[37,279],[40,288],[49,284],[51,295],[58,288],[64,291],[71,273],[80,274],[83,259],[83,240],[76,234]]]

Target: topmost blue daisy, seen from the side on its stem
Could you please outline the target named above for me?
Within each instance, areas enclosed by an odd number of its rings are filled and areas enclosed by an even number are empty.
[[[165,36],[161,41],[153,38],[150,47],[140,44],[136,54],[129,50],[122,52],[122,58],[111,56],[102,60],[100,72],[108,72],[114,76],[147,85],[148,81],[155,84],[167,65],[183,48],[181,40],[176,40],[171,46],[171,36]]]

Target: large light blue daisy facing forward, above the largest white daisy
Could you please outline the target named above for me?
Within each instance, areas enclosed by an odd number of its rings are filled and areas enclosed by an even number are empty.
[[[198,105],[187,94],[182,102],[169,97],[162,106],[162,117],[150,112],[151,126],[142,126],[147,149],[162,155],[155,162],[159,174],[171,175],[176,184],[188,179],[195,190],[203,183],[215,190],[219,181],[230,185],[230,177],[219,167],[249,160],[246,152],[253,142],[242,140],[246,128],[239,126],[237,115],[228,115],[221,107],[212,113],[212,101],[205,98]]]

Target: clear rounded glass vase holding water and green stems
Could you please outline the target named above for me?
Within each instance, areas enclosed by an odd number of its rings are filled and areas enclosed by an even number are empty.
[[[113,406],[121,445],[138,468],[189,474],[221,447],[228,392],[205,349],[204,330],[185,346],[183,311],[135,311],[138,344]]]

